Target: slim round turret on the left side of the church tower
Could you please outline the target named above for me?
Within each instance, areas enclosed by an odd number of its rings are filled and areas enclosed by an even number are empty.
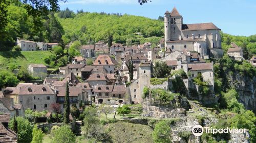
[[[170,13],[164,13],[164,49],[166,51],[166,42],[170,40]]]

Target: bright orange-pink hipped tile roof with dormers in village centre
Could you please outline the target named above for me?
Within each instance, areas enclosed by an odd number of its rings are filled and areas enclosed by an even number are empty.
[[[99,55],[93,65],[118,65],[119,63],[109,55]]]

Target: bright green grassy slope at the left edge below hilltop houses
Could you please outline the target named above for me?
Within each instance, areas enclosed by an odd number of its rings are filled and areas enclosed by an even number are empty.
[[[44,59],[50,51],[3,51],[0,52],[0,69],[7,69],[10,64],[28,66],[29,64],[45,64]]]

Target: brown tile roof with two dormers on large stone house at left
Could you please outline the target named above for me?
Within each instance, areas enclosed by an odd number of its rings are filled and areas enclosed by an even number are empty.
[[[31,89],[31,92],[29,91]],[[46,91],[43,91],[43,88]],[[24,85],[20,87],[19,95],[55,94],[49,85]]]

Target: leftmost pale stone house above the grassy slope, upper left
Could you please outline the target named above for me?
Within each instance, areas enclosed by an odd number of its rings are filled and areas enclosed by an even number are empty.
[[[34,41],[17,39],[16,45],[18,45],[22,51],[36,51],[36,42]]]

